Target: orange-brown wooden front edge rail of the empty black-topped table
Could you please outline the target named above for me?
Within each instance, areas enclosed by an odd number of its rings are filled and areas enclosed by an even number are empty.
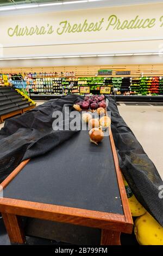
[[[0,198],[2,213],[41,218],[57,222],[65,222],[87,227],[111,229],[130,233],[131,225],[124,215],[91,211],[67,206],[29,202],[11,198]]]

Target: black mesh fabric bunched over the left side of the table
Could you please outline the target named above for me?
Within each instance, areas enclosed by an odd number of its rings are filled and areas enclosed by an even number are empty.
[[[44,104],[5,121],[0,131],[0,182],[25,159],[43,155],[69,139],[77,131],[53,131],[54,111],[72,108],[80,100],[76,95],[49,100]],[[65,120],[64,120],[65,122]]]

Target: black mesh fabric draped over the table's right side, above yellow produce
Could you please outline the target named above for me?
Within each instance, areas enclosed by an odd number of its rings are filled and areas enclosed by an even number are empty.
[[[158,170],[120,116],[115,100],[111,96],[108,99],[112,135],[124,178],[137,200],[163,226],[163,199],[159,198],[163,182]]]

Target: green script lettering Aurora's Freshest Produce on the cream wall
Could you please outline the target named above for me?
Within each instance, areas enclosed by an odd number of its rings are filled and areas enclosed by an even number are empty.
[[[82,32],[99,32],[99,31],[110,31],[117,30],[123,31],[126,29],[150,29],[154,26],[163,27],[163,15],[158,20],[155,18],[152,19],[142,19],[139,15],[135,16],[131,20],[121,20],[116,15],[112,14],[109,16],[108,20],[105,21],[104,18],[96,22],[89,22],[84,20],[80,23],[71,23],[67,20],[61,21],[57,28],[54,28],[53,25],[47,24],[46,26],[33,26],[33,27],[21,27],[16,25],[15,27],[8,28],[9,36],[31,36],[31,35],[51,35],[57,33],[62,35],[65,33],[82,33]]]

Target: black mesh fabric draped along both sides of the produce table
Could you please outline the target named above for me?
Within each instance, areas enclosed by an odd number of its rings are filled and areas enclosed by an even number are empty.
[[[22,160],[43,155],[78,132],[53,131],[52,114],[54,111],[64,113],[65,106],[72,108],[80,99],[83,97],[67,95],[61,99],[49,100],[32,111],[5,121],[0,131],[0,182]],[[111,96],[108,99],[111,130],[122,173],[137,200],[163,225],[163,199],[159,198],[159,186],[163,182],[160,175],[120,116],[115,100]]]

